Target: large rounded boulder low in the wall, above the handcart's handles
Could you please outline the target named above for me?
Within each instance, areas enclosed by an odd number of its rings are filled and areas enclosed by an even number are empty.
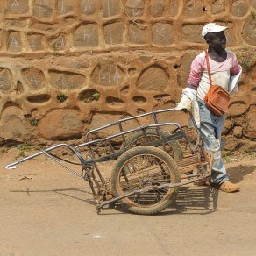
[[[75,110],[53,110],[39,121],[39,133],[45,139],[80,139],[83,123]]]

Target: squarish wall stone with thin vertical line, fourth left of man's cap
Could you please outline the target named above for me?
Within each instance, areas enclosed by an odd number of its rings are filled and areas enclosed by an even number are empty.
[[[107,45],[122,44],[124,25],[122,22],[115,22],[104,25],[104,38]]]

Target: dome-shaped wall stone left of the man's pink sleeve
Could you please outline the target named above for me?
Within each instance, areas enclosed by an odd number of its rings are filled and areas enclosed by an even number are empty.
[[[159,66],[153,66],[142,71],[136,82],[136,87],[141,90],[163,91],[167,88],[169,75]]]

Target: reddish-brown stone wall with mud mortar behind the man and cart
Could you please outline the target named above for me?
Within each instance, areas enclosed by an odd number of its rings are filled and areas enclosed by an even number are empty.
[[[204,47],[228,25],[244,68],[224,135],[256,138],[255,0],[1,0],[0,144],[82,139],[120,117],[173,107]],[[234,140],[235,138],[235,140]]]

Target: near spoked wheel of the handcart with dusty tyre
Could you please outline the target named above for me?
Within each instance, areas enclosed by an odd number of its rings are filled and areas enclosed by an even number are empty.
[[[125,169],[129,174],[125,174]],[[153,188],[163,184],[180,183],[178,168],[166,152],[153,146],[137,146],[123,153],[111,175],[112,193],[124,196],[135,190],[151,188],[120,200],[122,206],[132,213],[153,215],[173,203],[178,188]]]

